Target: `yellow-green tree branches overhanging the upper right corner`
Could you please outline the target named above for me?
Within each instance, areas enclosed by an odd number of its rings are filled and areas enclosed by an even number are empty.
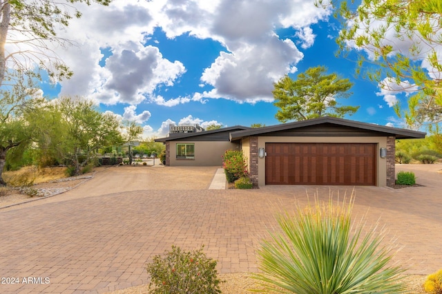
[[[337,42],[345,57],[356,52],[357,74],[383,89],[411,94],[408,125],[442,121],[442,1],[317,0],[343,20]],[[368,66],[374,64],[376,66]],[[363,72],[363,69],[365,72]],[[405,107],[406,108],[406,107]]]

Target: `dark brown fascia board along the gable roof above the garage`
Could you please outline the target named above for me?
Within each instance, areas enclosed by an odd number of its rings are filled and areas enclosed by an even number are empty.
[[[269,127],[259,127],[256,129],[233,132],[230,134],[230,140],[239,140],[240,138],[247,136],[265,135],[271,132],[284,131],[286,129],[297,129],[300,127],[309,127],[312,125],[320,125],[324,123],[332,123],[334,125],[343,125],[346,127],[356,127],[358,129],[382,132],[388,135],[396,136],[396,138],[425,138],[425,135],[427,134],[425,132],[417,132],[410,129],[399,129],[397,127],[387,127],[382,125],[375,125],[372,123],[361,123],[355,120],[324,116],[320,118],[313,118],[310,120],[300,120],[294,123],[283,123],[280,125],[270,125]]]

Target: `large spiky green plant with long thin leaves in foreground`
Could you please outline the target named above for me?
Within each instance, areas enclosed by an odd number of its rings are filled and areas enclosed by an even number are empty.
[[[385,231],[352,224],[353,204],[353,196],[342,204],[316,199],[314,207],[280,214],[253,277],[276,293],[405,293],[405,270],[390,264],[393,246],[381,245]]]

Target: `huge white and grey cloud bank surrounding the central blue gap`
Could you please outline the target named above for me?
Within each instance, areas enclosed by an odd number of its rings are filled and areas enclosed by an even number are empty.
[[[83,17],[73,19],[59,33],[77,44],[60,51],[61,59],[75,72],[70,81],[61,82],[62,94],[132,105],[146,99],[166,106],[204,103],[204,98],[271,101],[273,82],[295,72],[303,58],[296,45],[279,39],[275,30],[295,28],[300,46],[308,48],[314,43],[309,26],[330,14],[307,0],[114,0],[106,8],[84,3],[75,6]],[[227,48],[228,52],[221,52],[201,76],[202,83],[212,90],[172,99],[154,94],[161,87],[175,85],[186,72],[182,62],[165,59],[157,47],[142,45],[155,28],[169,38],[190,34],[213,39]],[[110,50],[111,56],[101,66],[103,48]]]

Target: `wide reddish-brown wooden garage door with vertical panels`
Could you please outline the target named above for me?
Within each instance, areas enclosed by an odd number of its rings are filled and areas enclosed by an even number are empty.
[[[376,185],[376,144],[266,143],[266,185]]]

